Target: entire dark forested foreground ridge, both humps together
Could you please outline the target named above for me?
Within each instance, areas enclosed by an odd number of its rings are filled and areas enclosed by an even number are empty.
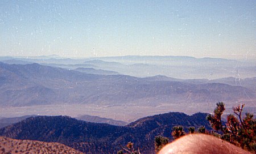
[[[154,153],[154,138],[158,135],[171,139],[173,126],[185,128],[206,126],[205,113],[191,116],[166,113],[138,119],[126,126],[79,121],[63,116],[30,117],[0,130],[1,136],[13,139],[59,142],[86,153],[116,153],[120,145],[133,142],[142,153]]]

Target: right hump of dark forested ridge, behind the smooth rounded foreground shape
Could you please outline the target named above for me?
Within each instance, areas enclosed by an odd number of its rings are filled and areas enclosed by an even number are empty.
[[[191,116],[179,113],[179,112],[170,112],[164,114],[153,115],[149,117],[144,117],[138,119],[135,122],[131,122],[127,127],[135,129],[137,134],[136,143],[142,151],[154,151],[154,138],[158,135],[163,135],[172,140],[171,129],[174,126],[181,125],[185,127],[185,130],[188,131],[188,127],[200,127],[206,126],[207,129],[210,129],[209,122],[205,120],[207,116],[206,113],[196,113]],[[141,139],[144,140],[141,140]]]

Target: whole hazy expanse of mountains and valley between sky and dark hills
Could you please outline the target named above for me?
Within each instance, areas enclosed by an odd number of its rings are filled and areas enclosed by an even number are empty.
[[[0,117],[89,114],[131,122],[170,111],[210,113],[218,101],[224,101],[230,112],[234,105],[245,103],[255,113],[256,72],[250,61],[56,55],[0,59]],[[161,70],[163,74],[158,74]]]

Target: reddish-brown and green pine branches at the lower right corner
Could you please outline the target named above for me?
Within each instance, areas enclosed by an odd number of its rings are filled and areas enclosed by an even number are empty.
[[[235,115],[229,114],[226,126],[222,126],[221,115],[225,110],[225,106],[223,102],[218,102],[216,109],[214,109],[214,115],[208,115],[207,120],[214,130],[221,130],[222,135],[218,135],[222,139],[256,153],[256,119],[250,113],[246,113],[245,117],[242,118],[244,106],[245,104],[233,108]],[[212,134],[216,135],[216,132]]]

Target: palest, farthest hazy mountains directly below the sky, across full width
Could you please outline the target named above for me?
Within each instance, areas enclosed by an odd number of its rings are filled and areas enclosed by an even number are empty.
[[[83,59],[61,58],[56,55],[40,57],[0,57],[4,63],[42,65],[77,69],[78,67],[108,70],[137,77],[165,75],[180,79],[252,78],[256,76],[255,61],[223,58],[195,58],[186,56],[95,57]]]

